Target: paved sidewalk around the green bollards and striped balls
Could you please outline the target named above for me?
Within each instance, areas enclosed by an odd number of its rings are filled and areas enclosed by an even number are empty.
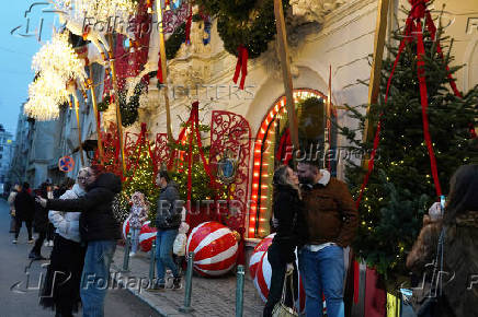
[[[149,254],[140,253],[129,259],[129,272],[122,273],[124,251],[123,247],[117,246],[112,263],[112,274],[115,280],[123,280],[127,286],[127,277],[136,280],[144,279],[145,284],[149,274]],[[255,287],[246,269],[244,293],[243,293],[243,316],[262,316],[264,303],[259,296]],[[190,314],[178,310],[184,304],[184,289],[161,292],[138,291],[133,285],[127,287],[129,292],[138,296],[141,301],[150,305],[161,316],[236,316],[236,270],[221,278],[206,279],[193,275],[191,307],[194,309]],[[184,285],[184,279],[183,279]]]

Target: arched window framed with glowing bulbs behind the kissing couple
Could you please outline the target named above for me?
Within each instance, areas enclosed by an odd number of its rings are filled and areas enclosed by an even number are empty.
[[[323,168],[335,174],[333,160],[337,146],[337,131],[332,124],[327,129],[327,97],[315,90],[294,91],[297,110],[299,143],[304,160],[320,160]],[[330,142],[329,142],[330,140]],[[329,146],[330,149],[327,149]],[[325,153],[328,153],[325,155]],[[295,155],[288,132],[285,96],[280,97],[269,109],[255,137],[253,150],[253,174],[251,206],[249,208],[249,238],[263,238],[270,233],[272,215],[272,176],[281,164],[289,164]]]

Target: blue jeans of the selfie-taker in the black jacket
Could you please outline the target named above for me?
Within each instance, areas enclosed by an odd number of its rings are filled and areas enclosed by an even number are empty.
[[[116,240],[88,243],[80,289],[83,317],[104,316],[104,297],[109,287],[110,266],[115,250]]]

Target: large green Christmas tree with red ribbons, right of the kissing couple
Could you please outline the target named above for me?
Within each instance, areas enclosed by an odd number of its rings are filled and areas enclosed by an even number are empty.
[[[449,90],[448,73],[453,75],[459,67],[447,70],[453,60],[453,40],[442,37],[439,27],[436,38],[447,43],[448,54],[437,52],[437,42],[424,33],[424,70],[428,86],[428,116],[430,136],[436,156],[439,179],[443,192],[448,192],[448,183],[454,171],[476,161],[478,146],[470,133],[470,124],[478,116],[478,86],[463,97]],[[394,39],[403,38],[396,32]],[[387,81],[396,60],[398,48],[388,47],[390,56],[384,60],[380,101],[371,105],[367,115],[363,108],[348,107],[349,116],[357,119],[358,128],[340,128],[352,144],[349,151],[371,153],[372,142],[362,142],[366,120],[377,128],[383,114],[378,154],[368,185],[360,206],[360,227],[353,244],[356,255],[368,266],[392,281],[407,274],[405,260],[422,226],[422,216],[437,201],[431,173],[428,146],[424,141],[422,105],[417,66],[417,43],[406,44],[391,80],[388,102],[384,103]],[[372,140],[373,141],[373,140]],[[348,160],[345,174],[351,191],[358,197],[367,169],[357,160]]]

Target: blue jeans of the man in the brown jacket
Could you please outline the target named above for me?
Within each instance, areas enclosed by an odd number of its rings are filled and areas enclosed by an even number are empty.
[[[322,292],[327,316],[343,317],[343,248],[328,246],[317,253],[303,248],[299,251],[299,271],[306,291],[306,316],[322,316]]]

